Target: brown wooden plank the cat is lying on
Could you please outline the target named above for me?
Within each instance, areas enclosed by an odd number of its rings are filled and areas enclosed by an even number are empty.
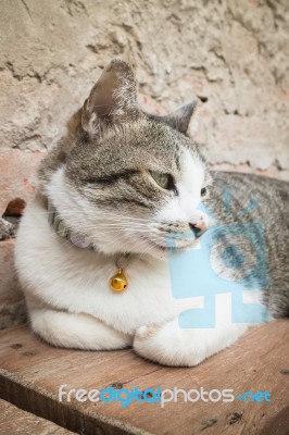
[[[52,348],[26,326],[0,334],[0,395],[63,427],[81,434],[288,435],[289,322],[252,328],[236,345],[191,369],[163,368],[133,350],[79,351]],[[271,393],[272,402],[60,402],[70,388],[233,388]]]

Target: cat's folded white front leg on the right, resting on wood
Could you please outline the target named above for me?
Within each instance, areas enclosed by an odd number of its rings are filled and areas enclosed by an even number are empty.
[[[175,319],[160,326],[139,327],[134,349],[141,357],[164,365],[192,366],[230,346],[247,328],[246,324],[181,328]]]

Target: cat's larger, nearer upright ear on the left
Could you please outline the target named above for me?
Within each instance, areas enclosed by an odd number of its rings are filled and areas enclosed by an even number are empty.
[[[81,126],[89,134],[101,125],[137,119],[137,83],[128,63],[114,59],[102,72],[85,101]]]

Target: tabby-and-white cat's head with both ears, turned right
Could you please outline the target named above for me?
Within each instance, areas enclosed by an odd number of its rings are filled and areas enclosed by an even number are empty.
[[[208,226],[199,209],[210,174],[186,133],[196,102],[172,115],[141,111],[130,66],[114,60],[93,86],[81,129],[50,196],[74,231],[105,253],[162,257]]]

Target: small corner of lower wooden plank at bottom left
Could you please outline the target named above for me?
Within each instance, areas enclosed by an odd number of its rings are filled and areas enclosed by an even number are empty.
[[[73,432],[0,399],[0,435],[72,435]]]

